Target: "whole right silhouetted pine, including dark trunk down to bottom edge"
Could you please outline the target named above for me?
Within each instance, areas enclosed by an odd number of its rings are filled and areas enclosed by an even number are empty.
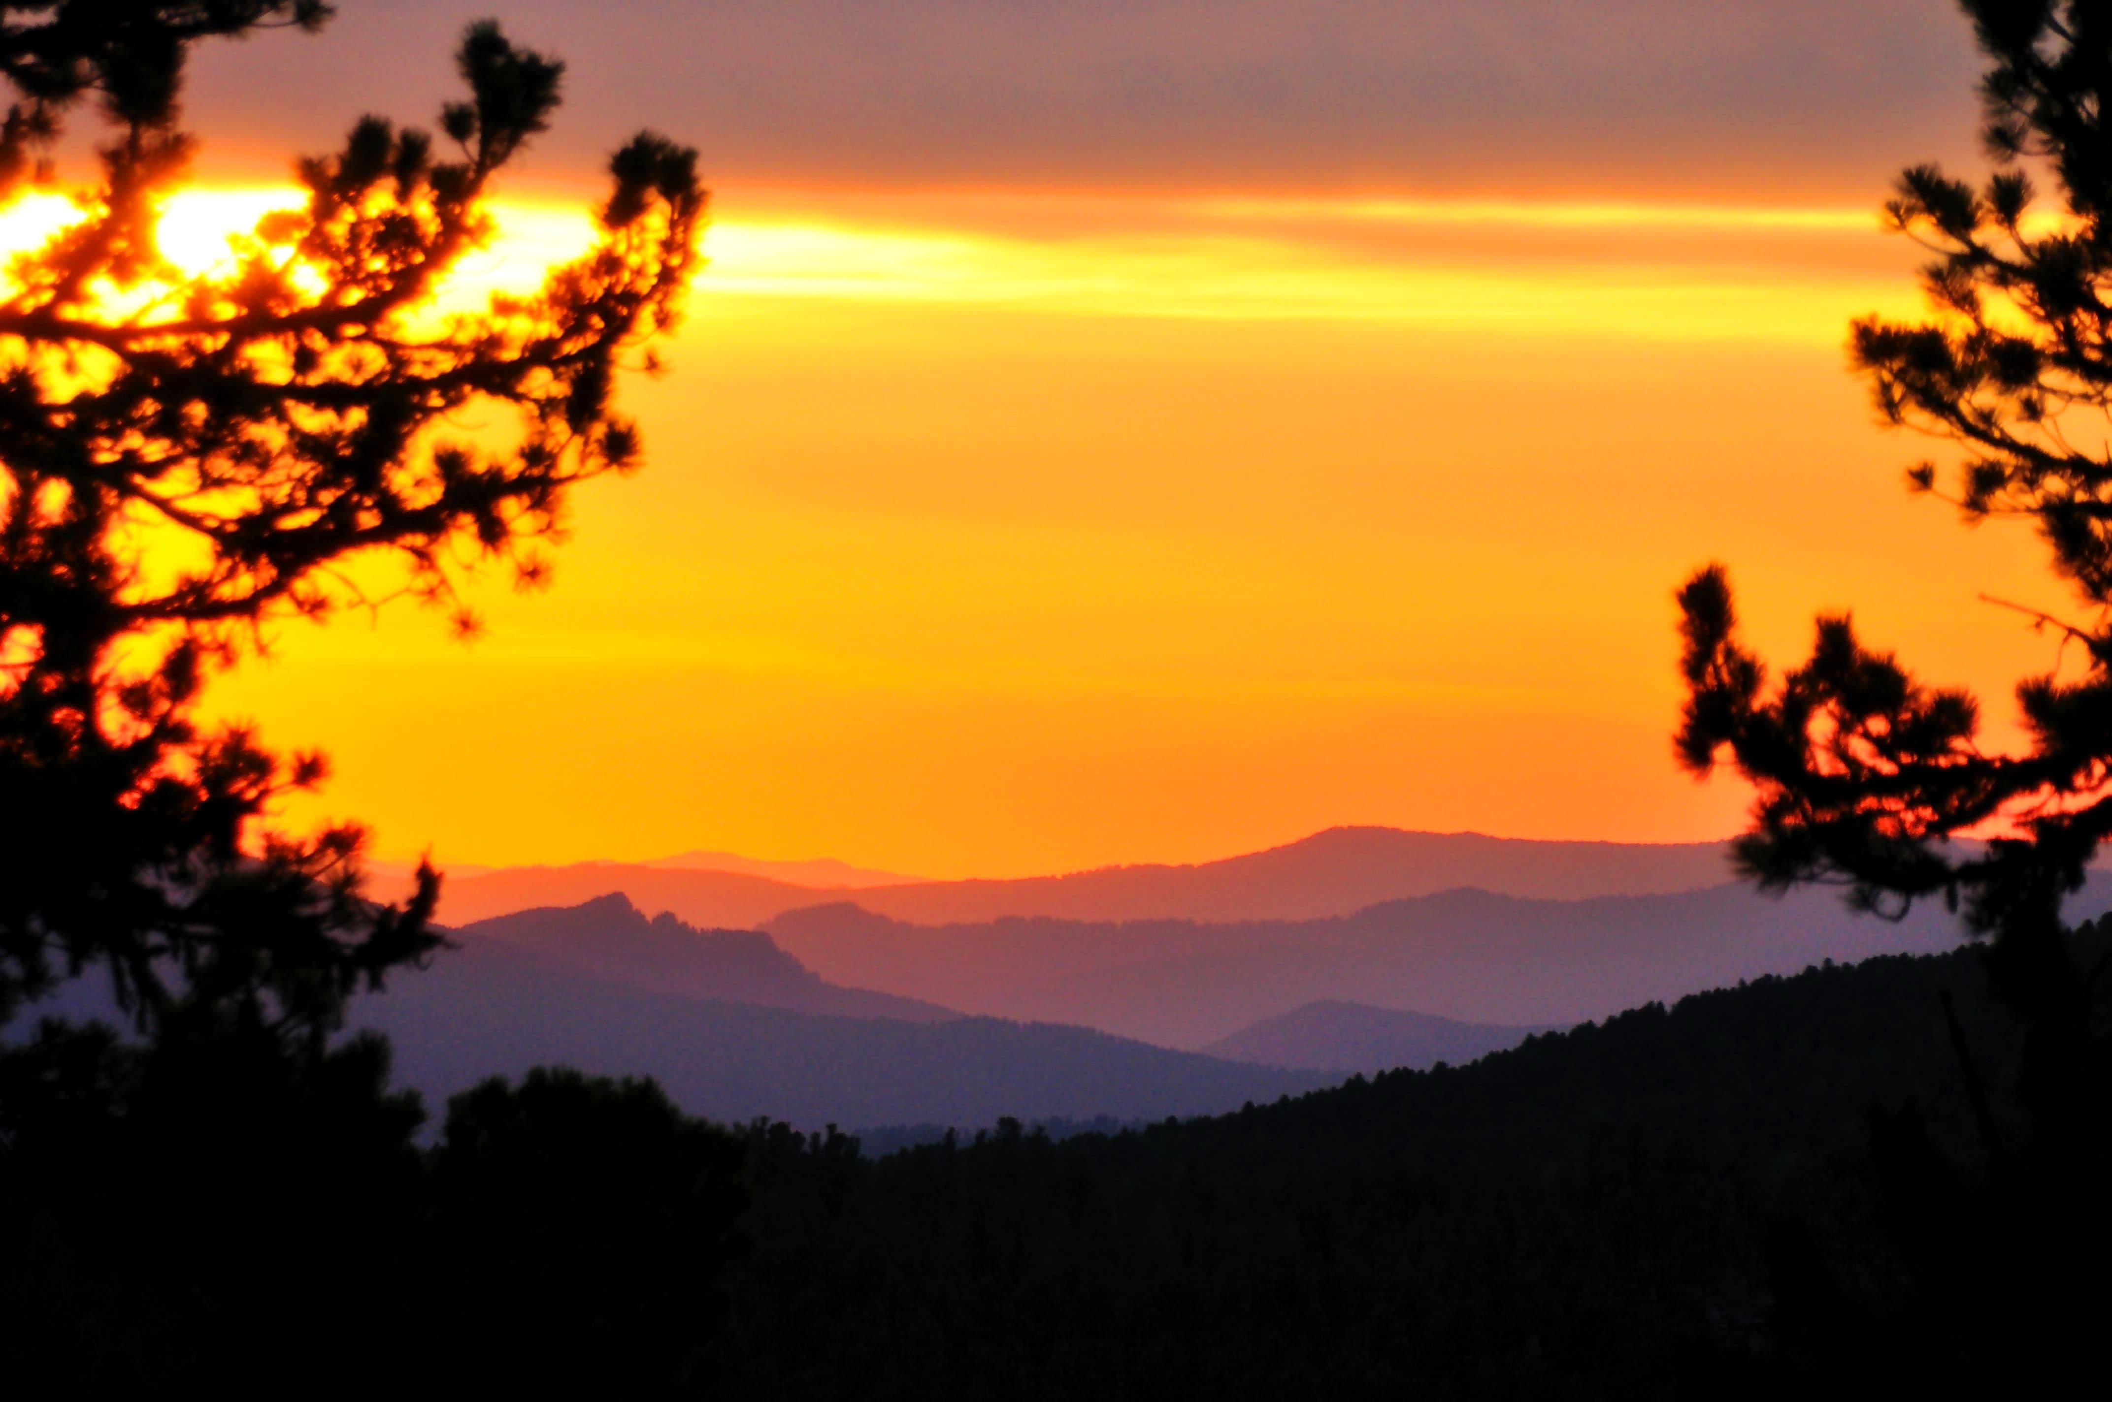
[[[2032,522],[2085,614],[2023,610],[2059,636],[2061,661],[2017,686],[2028,750],[1992,754],[1975,697],[1922,684],[1867,648],[1848,614],[1818,619],[1810,659],[1770,680],[1711,566],[1679,591],[1690,697],[1677,750],[1696,773],[1728,756],[1757,785],[1736,855],[1761,887],[1835,880],[1894,916],[1939,897],[1985,937],[1992,984],[2025,1026],[2032,1142],[2004,1144],[1987,1125],[1975,1189],[1928,1161],[1911,1117],[1880,1121],[1875,1140],[1924,1282],[1911,1311],[1928,1328],[1901,1360],[1935,1351],[1966,1368],[1949,1383],[1977,1370],[2019,1385],[2049,1360],[2080,1362],[2112,1305],[2099,1267],[2112,1248],[2099,1204],[2112,1041],[2093,1016],[2101,965],[2080,967],[2061,921],[2112,834],[2112,6],[1962,8],[1990,61],[1994,173],[1979,186],[1932,165],[1901,175],[1884,209],[1935,253],[1922,272],[1930,317],[1859,321],[1854,361],[1888,422],[1958,450],[1949,473],[1911,467],[1911,488],[1947,494],[1973,522]],[[1958,840],[1968,834],[1992,836]],[[1958,1299],[1987,1290],[1977,1328],[1949,1320]]]

